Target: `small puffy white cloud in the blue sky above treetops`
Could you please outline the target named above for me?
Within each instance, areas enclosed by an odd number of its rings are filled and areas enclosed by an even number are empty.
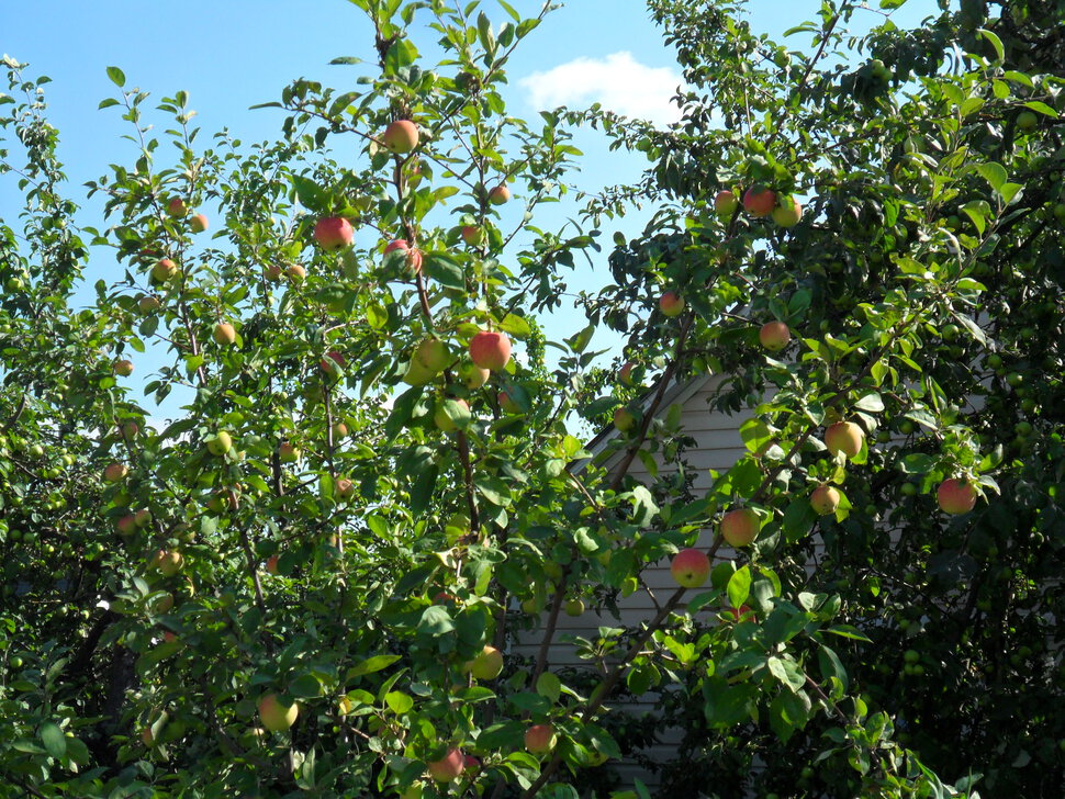
[[[625,116],[650,120],[658,125],[676,122],[680,110],[670,98],[681,76],[669,67],[648,67],[631,53],[613,53],[605,58],[575,58],[519,81],[536,110],[558,105],[579,108],[601,103]]]

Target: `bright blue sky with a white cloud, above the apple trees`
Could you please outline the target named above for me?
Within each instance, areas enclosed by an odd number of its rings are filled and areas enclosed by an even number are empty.
[[[526,13],[540,4],[511,2]],[[819,7],[820,0],[752,0],[749,10],[755,31],[780,37],[787,27],[815,19]],[[484,0],[482,8],[496,21],[505,19],[494,0]],[[934,11],[934,0],[909,0],[893,19],[900,26],[915,25]],[[882,19],[873,11],[857,16],[865,26]],[[423,54],[431,56],[429,43],[436,34],[415,30],[413,35]],[[60,131],[60,159],[74,184],[71,194],[79,200],[81,183],[107,172],[109,164],[127,164],[136,156],[134,146],[121,138],[130,128],[117,111],[97,110],[100,100],[117,92],[107,66],[122,68],[127,87],[150,91],[155,100],[188,91],[203,128],[201,146],[223,127],[256,142],[277,137],[283,115],[249,111],[250,105],[278,99],[296,77],[343,87],[359,68],[328,61],[336,56],[372,59],[371,43],[362,12],[345,0],[0,0],[0,52],[29,61],[30,76],[52,78],[45,87],[48,116]],[[788,44],[806,48],[809,36],[795,36]],[[664,123],[674,113],[669,98],[680,82],[672,52],[640,0],[571,0],[518,48],[508,75],[509,109],[526,119],[540,108],[598,101],[619,113]],[[646,164],[642,157],[607,153],[591,132],[582,133],[578,145],[585,151],[575,179],[583,189],[635,179]],[[0,217],[9,222],[14,222],[14,199],[10,184],[0,179]],[[574,211],[556,207],[554,221],[561,224]],[[621,229],[635,235],[643,218],[636,215]],[[101,224],[91,213],[81,221]],[[552,222],[538,217],[547,227]],[[609,241],[610,233],[602,240]],[[606,280],[606,255],[571,285],[594,290]],[[105,271],[105,263],[93,265],[90,280]],[[562,314],[560,320],[565,335],[582,326],[576,314]],[[609,344],[595,341],[597,348]]]

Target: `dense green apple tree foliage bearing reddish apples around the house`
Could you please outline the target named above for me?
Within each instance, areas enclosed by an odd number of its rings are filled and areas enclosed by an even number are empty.
[[[7,63],[0,797],[606,796],[623,691],[686,731],[663,796],[1054,795],[1062,9],[859,41],[868,12],[827,0],[801,53],[732,0],[652,0],[687,80],[655,131],[507,115],[546,7],[351,2],[379,63],[288,87],[276,143],[201,147],[183,93],[112,67],[135,153],[91,225],[45,79]],[[580,122],[650,168],[586,235],[543,229]],[[634,201],[657,214],[587,327],[545,336]],[[78,307],[90,248],[113,263]],[[603,326],[625,369],[596,369]],[[663,397],[708,370],[749,453],[693,492],[659,469],[692,443]],[[571,430],[608,419],[590,462]],[[551,663],[579,600],[614,652],[583,676]]]

